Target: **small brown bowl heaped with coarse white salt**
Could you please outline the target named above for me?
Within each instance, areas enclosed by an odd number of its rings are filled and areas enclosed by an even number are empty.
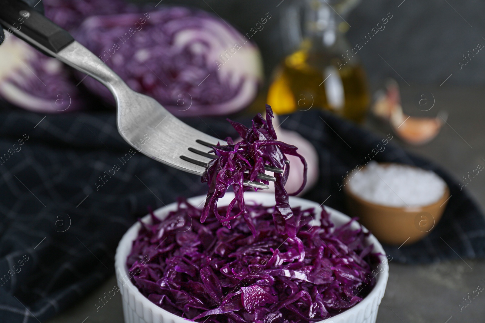
[[[441,177],[414,166],[370,162],[349,175],[342,183],[349,215],[390,245],[412,244],[429,234],[450,198]]]

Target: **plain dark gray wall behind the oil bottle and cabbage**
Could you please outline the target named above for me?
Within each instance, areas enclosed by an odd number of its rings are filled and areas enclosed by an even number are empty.
[[[289,48],[282,39],[280,19],[284,11],[294,1],[237,1],[237,0],[163,0],[162,3],[184,4],[208,12],[215,12],[240,31],[249,31],[259,18],[266,13],[275,16],[266,24],[264,32],[254,36],[261,49],[263,59],[272,68],[279,63]],[[329,1],[330,2],[330,1]],[[480,85],[485,82],[482,73],[485,59],[477,57],[474,68],[458,72],[458,61],[462,55],[484,42],[484,21],[481,14],[485,4],[481,1],[357,1],[345,19],[349,27],[346,36],[350,44],[362,43],[381,18],[391,13],[394,17],[386,25],[385,32],[358,52],[368,71],[372,84],[379,84],[386,77],[399,78],[396,72],[408,83],[439,86],[453,72],[448,81],[453,85]],[[275,6],[279,6],[276,8]],[[398,7],[399,5],[399,7]],[[381,55],[396,72],[386,63]],[[266,75],[271,76],[269,66],[265,65]],[[402,79],[398,79],[404,83]],[[405,83],[404,83],[405,84]]]

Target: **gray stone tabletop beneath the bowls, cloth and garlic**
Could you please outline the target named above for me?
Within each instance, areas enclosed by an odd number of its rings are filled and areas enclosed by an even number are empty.
[[[401,89],[404,112],[413,116],[449,113],[448,123],[430,143],[412,147],[398,142],[411,152],[440,164],[457,181],[478,164],[485,166],[485,91],[483,88],[410,86]],[[429,106],[419,106],[421,94]],[[432,95],[430,95],[432,94]],[[434,99],[433,99],[434,97]],[[423,112],[435,103],[431,110]],[[421,101],[424,103],[424,101]],[[365,127],[386,134],[388,127],[369,119]],[[480,173],[465,188],[485,209],[485,174]],[[468,297],[479,285],[485,287],[485,260],[464,259],[427,265],[404,265],[389,262],[386,294],[379,308],[377,323],[458,323],[485,322],[485,291],[474,299]],[[47,323],[123,322],[119,293],[102,308],[96,308],[104,292],[116,284],[111,277],[105,284]],[[475,293],[476,294],[476,293]],[[467,305],[468,304],[468,305]],[[467,305],[466,307],[461,306]],[[83,321],[84,320],[84,321]]]

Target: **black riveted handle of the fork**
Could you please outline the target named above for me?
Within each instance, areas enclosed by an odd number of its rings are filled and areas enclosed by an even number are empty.
[[[0,24],[49,56],[74,42],[67,31],[19,0],[0,0]]]

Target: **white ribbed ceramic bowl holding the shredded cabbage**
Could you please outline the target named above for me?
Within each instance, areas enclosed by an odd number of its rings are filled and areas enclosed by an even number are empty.
[[[233,199],[233,197],[234,194],[226,193],[226,196],[219,200],[219,205],[227,205],[229,201]],[[202,201],[204,201],[205,198],[205,196],[198,196],[192,199],[188,199],[188,201],[192,205],[197,206]],[[244,200],[246,201],[246,203],[255,201],[263,205],[275,205],[275,196],[269,193],[246,192],[244,193]],[[292,207],[301,206],[303,208],[313,207],[315,208],[315,210],[321,209],[318,203],[295,197],[290,197],[290,205]],[[168,212],[176,209],[177,204],[172,203],[156,210],[155,215],[159,218],[163,218],[168,214]],[[350,220],[350,217],[332,208],[325,206],[325,210],[327,210],[327,212],[330,214],[331,221],[337,227],[347,223]],[[319,214],[319,212],[317,212],[317,214]],[[142,221],[148,223],[150,221],[150,216],[146,215],[142,219]],[[318,223],[319,220],[315,219],[315,222]],[[357,229],[358,224],[354,222],[351,228],[354,230]],[[135,285],[133,285],[129,280],[129,268],[127,268],[126,266],[126,259],[129,252],[131,251],[131,245],[133,240],[135,240],[138,236],[139,230],[140,223],[136,223],[131,228],[129,228],[129,230],[121,239],[118,248],[116,249],[115,270],[118,286],[120,288],[123,300],[125,323],[190,322],[150,302],[145,296],[142,295],[141,292],[138,291]],[[379,304],[381,303],[381,299],[384,296],[384,292],[386,290],[389,276],[389,267],[387,258],[386,256],[384,256],[384,249],[382,248],[381,244],[379,244],[377,239],[373,235],[370,235],[367,240],[369,244],[374,245],[373,252],[379,252],[383,255],[381,256],[381,267],[378,271],[376,270],[377,274],[375,277],[377,281],[374,288],[372,289],[372,292],[370,292],[369,295],[367,295],[367,297],[362,300],[362,302],[358,303],[353,308],[349,308],[342,313],[331,317],[330,319],[321,321],[322,323],[375,323],[375,320],[377,318],[377,310],[379,309]]]

